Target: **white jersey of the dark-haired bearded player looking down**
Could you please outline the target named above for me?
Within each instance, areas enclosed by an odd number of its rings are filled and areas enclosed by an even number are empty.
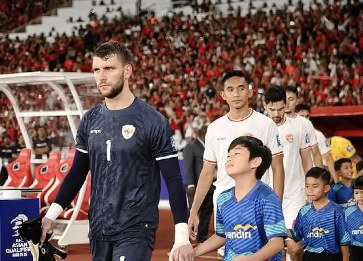
[[[302,167],[301,150],[310,150],[310,140],[305,125],[300,121],[285,117],[277,126],[284,151],[285,185],[284,198],[302,199],[305,172]]]

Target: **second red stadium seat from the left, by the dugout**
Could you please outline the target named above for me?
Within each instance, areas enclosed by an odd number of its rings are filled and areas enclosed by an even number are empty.
[[[54,178],[56,177],[55,167],[59,167],[61,159],[61,153],[59,151],[53,151],[50,153],[49,159],[35,168],[35,179],[33,184],[29,186],[32,189],[42,189],[40,193],[29,194],[27,197],[38,197],[40,200],[40,206],[44,206],[44,197],[41,197],[49,190],[53,185]]]

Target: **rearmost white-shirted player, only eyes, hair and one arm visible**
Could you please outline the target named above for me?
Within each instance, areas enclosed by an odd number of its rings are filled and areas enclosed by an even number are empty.
[[[300,116],[310,120],[310,106],[309,105],[298,104],[295,108],[295,111]],[[330,144],[321,131],[315,129],[315,135],[317,136],[318,148],[321,153],[321,157],[323,158],[323,161],[325,162],[326,166],[328,167],[329,172],[330,172],[331,177],[333,178],[334,182],[338,182],[339,178],[338,178],[337,173],[335,173],[334,160],[330,154]]]

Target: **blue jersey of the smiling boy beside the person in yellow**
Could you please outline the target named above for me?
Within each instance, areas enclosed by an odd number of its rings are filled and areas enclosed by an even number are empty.
[[[349,188],[346,187],[342,181],[333,184],[326,197],[339,204],[343,210],[347,207],[354,206],[356,204],[353,196],[354,181],[355,180],[352,179],[352,184]]]

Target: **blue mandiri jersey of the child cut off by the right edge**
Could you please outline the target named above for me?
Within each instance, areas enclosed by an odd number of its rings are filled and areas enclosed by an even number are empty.
[[[363,211],[357,205],[348,207],[345,220],[352,245],[363,247]]]

